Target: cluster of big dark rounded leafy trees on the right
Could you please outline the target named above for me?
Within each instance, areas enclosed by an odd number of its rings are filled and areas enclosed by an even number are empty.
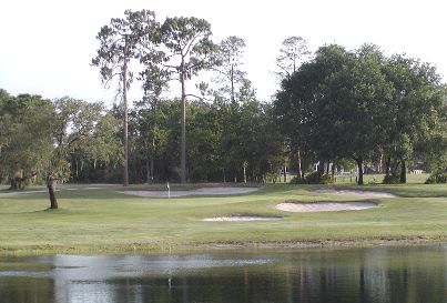
[[[297,161],[355,161],[359,184],[372,162],[385,183],[405,183],[408,165],[445,172],[446,109],[446,85],[434,67],[367,44],[319,48],[283,81],[275,100]],[[317,179],[328,173],[325,166]]]

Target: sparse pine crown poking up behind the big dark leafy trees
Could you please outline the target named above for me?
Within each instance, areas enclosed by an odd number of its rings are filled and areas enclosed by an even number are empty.
[[[305,61],[309,54],[308,43],[304,38],[293,36],[284,39],[276,58],[280,78],[289,78],[298,69],[299,62]]]

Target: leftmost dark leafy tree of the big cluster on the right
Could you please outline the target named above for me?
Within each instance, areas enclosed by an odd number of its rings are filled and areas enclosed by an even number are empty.
[[[313,61],[304,63],[282,82],[274,102],[274,112],[289,141],[291,156],[296,159],[297,172],[304,176],[304,165],[323,163],[335,158],[334,100],[328,79],[348,61],[346,50],[338,46],[322,47]],[[324,92],[326,90],[326,92]],[[341,145],[339,145],[341,147]]]

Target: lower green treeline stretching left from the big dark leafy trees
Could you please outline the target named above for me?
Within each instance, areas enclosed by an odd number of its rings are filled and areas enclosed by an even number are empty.
[[[71,98],[0,91],[0,175],[12,188],[45,180],[122,181],[122,111]],[[250,83],[235,102],[187,104],[189,181],[265,182],[284,163],[272,104]],[[181,102],[135,102],[129,119],[130,181],[180,180]]]

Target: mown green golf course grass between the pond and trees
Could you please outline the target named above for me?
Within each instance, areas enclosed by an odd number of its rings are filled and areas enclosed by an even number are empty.
[[[85,185],[92,188],[95,185]],[[202,186],[189,185],[187,189]],[[216,245],[370,243],[447,239],[447,185],[335,184],[385,191],[402,198],[376,199],[364,211],[291,213],[275,209],[286,200],[354,201],[312,192],[315,186],[270,184],[256,193],[176,199],[119,193],[120,185],[57,192],[59,210],[48,210],[47,193],[0,193],[0,254],[172,251]],[[74,188],[74,186],[70,186]],[[131,186],[131,190],[148,185]],[[174,185],[175,189],[182,189]],[[159,185],[164,189],[164,184]],[[172,189],[172,186],[171,186]],[[35,189],[33,189],[35,190]],[[204,222],[222,215],[282,216],[276,221]]]

